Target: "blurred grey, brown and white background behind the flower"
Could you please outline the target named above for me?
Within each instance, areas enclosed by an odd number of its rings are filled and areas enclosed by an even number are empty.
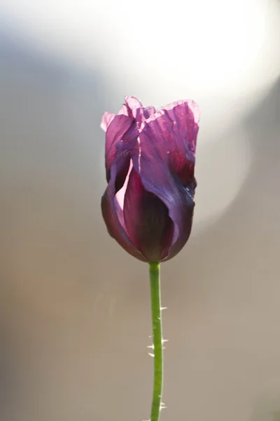
[[[100,212],[124,95],[202,112],[161,420],[280,420],[279,76],[277,0],[1,0],[1,421],[149,417],[148,267]]]

